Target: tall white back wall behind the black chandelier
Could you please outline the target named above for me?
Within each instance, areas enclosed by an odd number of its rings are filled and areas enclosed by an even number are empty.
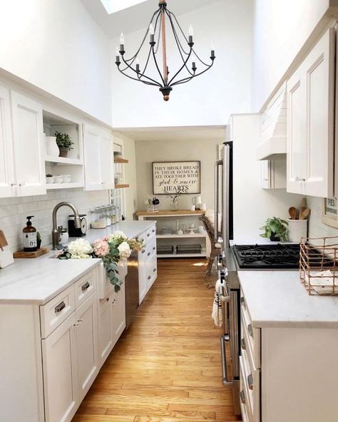
[[[155,3],[154,3],[155,10]],[[175,11],[173,11],[175,12]],[[230,113],[250,110],[252,0],[220,0],[178,16],[182,28],[194,27],[195,49],[210,61],[210,41],[215,42],[214,67],[187,84],[176,86],[165,103],[156,87],[143,86],[118,73],[113,66],[113,126],[159,127],[224,125]],[[145,29],[126,36],[126,57],[133,56]],[[112,42],[113,56],[119,39]],[[173,51],[168,65],[174,74]],[[140,56],[141,63],[144,62]]]

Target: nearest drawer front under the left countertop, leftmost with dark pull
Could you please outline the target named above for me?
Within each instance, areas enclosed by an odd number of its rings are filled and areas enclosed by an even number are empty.
[[[51,334],[75,310],[74,286],[40,307],[41,337]]]

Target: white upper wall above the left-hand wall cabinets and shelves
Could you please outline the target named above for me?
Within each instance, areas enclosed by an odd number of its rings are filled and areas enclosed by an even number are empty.
[[[0,0],[0,68],[111,123],[110,41],[80,0]]]

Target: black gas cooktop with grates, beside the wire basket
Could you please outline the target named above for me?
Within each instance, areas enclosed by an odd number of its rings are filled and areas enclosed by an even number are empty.
[[[232,247],[240,268],[297,269],[300,247],[288,245],[235,245]]]

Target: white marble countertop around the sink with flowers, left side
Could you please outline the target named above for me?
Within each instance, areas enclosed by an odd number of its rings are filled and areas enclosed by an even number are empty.
[[[153,224],[150,220],[124,221],[103,230],[88,230],[85,239],[93,242],[117,230],[133,238]],[[0,304],[46,304],[101,262],[101,259],[53,259],[54,255],[55,251],[51,251],[35,259],[15,259],[14,264],[0,269]]]

